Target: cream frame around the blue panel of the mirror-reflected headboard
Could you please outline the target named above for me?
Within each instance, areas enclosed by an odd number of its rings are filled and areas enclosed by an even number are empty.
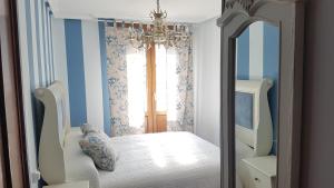
[[[273,81],[263,80],[237,80],[235,91],[248,93],[252,99],[252,129],[242,125],[235,125],[236,138],[254,149],[255,156],[266,156],[273,146],[273,122],[267,99],[267,92]]]

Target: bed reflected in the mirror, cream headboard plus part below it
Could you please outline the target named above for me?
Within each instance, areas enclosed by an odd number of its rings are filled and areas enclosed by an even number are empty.
[[[245,158],[267,156],[273,146],[273,123],[267,99],[271,79],[237,80],[235,86],[236,185],[246,188]]]

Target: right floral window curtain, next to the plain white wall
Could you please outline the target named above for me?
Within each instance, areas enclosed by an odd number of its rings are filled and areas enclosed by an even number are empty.
[[[167,49],[167,130],[194,131],[194,63],[191,40]]]

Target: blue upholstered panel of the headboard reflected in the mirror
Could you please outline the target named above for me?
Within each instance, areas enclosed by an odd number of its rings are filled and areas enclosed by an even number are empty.
[[[253,95],[235,92],[235,123],[253,129]]]

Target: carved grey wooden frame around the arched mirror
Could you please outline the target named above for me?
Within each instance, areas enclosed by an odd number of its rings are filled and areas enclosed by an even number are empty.
[[[223,0],[217,20],[220,59],[220,185],[235,188],[235,38],[255,21],[279,28],[277,188],[297,188],[302,121],[304,4],[302,0]]]

